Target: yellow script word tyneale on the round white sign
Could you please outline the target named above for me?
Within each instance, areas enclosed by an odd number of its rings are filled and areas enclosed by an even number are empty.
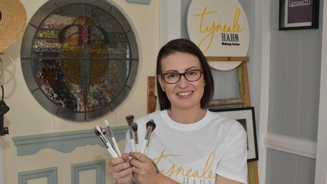
[[[233,19],[233,25],[232,26],[228,26],[226,24],[221,25],[220,23],[216,23],[215,21],[213,21],[211,23],[211,25],[206,25],[205,28],[203,29],[203,19],[205,17],[205,15],[208,14],[213,14],[213,13],[217,13],[217,11],[213,11],[213,12],[206,12],[207,11],[207,7],[205,7],[203,9],[203,12],[201,14],[197,14],[194,15],[195,17],[200,16],[200,24],[199,24],[199,31],[200,33],[208,33],[206,34],[199,42],[198,47],[201,48],[201,45],[203,43],[204,40],[206,40],[207,38],[209,39],[209,43],[208,45],[205,47],[205,49],[203,50],[203,52],[206,52],[213,40],[214,34],[218,31],[223,32],[223,33],[239,33],[241,31],[243,31],[243,29],[240,28],[239,24],[238,24],[238,19],[239,19],[239,15],[240,15],[240,10],[236,9],[235,13],[234,13],[234,19]]]

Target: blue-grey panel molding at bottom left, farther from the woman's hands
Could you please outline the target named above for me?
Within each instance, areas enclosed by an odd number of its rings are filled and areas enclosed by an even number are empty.
[[[47,184],[57,184],[57,167],[18,172],[18,184],[27,184],[30,179],[47,177]]]

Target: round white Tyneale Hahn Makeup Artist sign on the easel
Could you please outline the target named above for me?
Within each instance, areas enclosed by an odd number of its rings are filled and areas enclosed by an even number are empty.
[[[246,56],[250,29],[246,14],[237,0],[191,2],[187,15],[190,40],[205,56]],[[217,69],[227,70],[240,62],[210,62]]]

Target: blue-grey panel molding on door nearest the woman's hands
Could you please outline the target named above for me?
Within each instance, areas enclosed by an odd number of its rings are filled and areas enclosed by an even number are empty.
[[[71,184],[79,183],[79,172],[84,170],[96,169],[96,184],[106,182],[106,160],[97,160],[84,163],[76,163],[71,165]]]

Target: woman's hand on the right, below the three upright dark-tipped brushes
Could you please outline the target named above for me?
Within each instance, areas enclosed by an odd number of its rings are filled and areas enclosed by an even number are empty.
[[[160,183],[159,178],[163,175],[151,158],[138,152],[130,152],[129,156],[133,157],[130,164],[135,166],[133,176],[139,184]]]

